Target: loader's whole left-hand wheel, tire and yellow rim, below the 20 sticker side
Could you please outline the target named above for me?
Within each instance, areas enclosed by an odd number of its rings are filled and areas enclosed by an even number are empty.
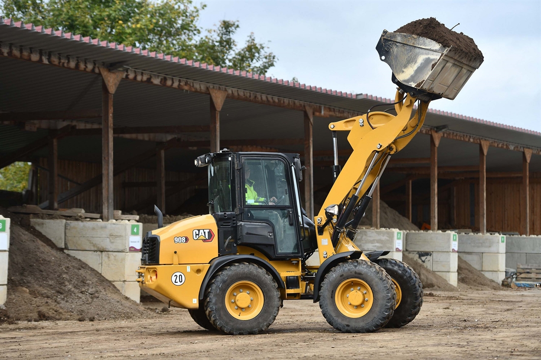
[[[205,298],[210,323],[229,335],[267,330],[280,309],[278,285],[255,264],[232,264],[220,270],[208,285]]]

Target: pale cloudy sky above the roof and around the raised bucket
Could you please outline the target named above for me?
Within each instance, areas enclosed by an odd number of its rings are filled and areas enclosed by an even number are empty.
[[[200,3],[200,2],[196,2]],[[381,31],[425,17],[472,37],[485,62],[454,101],[434,109],[541,131],[541,2],[536,1],[223,1],[206,0],[200,25],[238,20],[270,41],[278,63],[267,76],[322,88],[394,98],[391,69],[375,45]]]

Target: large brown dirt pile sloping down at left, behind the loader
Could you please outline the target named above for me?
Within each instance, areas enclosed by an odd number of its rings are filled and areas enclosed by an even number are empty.
[[[22,217],[3,209],[0,214],[12,219],[8,299],[0,322],[153,316],[90,266],[25,230],[19,224]]]

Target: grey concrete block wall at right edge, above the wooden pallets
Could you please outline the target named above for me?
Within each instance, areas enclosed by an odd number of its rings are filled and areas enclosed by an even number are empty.
[[[541,264],[540,235],[507,235],[505,266],[517,269],[517,264]]]

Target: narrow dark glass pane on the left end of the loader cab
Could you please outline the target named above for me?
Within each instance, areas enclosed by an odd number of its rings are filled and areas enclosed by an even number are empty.
[[[231,163],[228,159],[216,159],[208,165],[209,212],[233,211],[231,207]]]

